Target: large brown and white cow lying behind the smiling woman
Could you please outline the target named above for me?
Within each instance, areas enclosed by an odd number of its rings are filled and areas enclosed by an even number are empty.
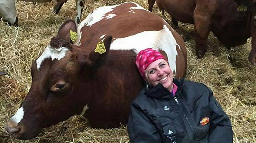
[[[78,31],[74,44],[70,30]],[[106,52],[95,53],[102,40]],[[135,57],[149,47],[167,57],[177,78],[185,76],[187,54],[181,36],[136,3],[100,7],[78,30],[67,20],[32,63],[31,89],[9,119],[7,131],[15,138],[31,139],[43,127],[75,114],[85,115],[93,128],[126,124],[130,102],[144,86]]]

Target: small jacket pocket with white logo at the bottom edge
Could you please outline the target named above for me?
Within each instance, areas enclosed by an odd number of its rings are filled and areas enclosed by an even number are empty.
[[[163,130],[163,140],[166,143],[177,143],[176,142],[176,130],[173,126],[172,121],[166,121],[161,123],[161,128]]]

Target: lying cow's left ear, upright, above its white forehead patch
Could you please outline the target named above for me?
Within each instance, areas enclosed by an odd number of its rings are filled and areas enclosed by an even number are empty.
[[[57,37],[69,41],[69,43],[72,43],[70,39],[70,30],[73,32],[77,32],[77,24],[75,24],[74,20],[68,19],[66,20],[59,28]]]

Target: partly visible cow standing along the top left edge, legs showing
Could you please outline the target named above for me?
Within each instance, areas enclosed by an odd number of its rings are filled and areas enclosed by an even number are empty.
[[[29,1],[29,2],[50,2],[52,0],[21,0],[21,1]],[[81,14],[84,7],[85,0],[75,0],[77,5],[77,16],[76,16],[76,23],[80,23]],[[58,14],[61,6],[67,2],[67,0],[56,0],[56,4],[54,7],[53,12]],[[8,22],[9,25],[18,26],[18,17],[17,11],[15,6],[15,0],[0,0],[0,14],[2,15],[3,19]]]

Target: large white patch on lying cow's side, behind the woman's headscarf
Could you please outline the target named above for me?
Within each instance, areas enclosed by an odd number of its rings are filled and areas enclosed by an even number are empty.
[[[161,49],[167,54],[172,71],[176,71],[176,46],[181,48],[172,32],[164,25],[159,31],[143,31],[125,38],[117,38],[112,42],[110,49],[134,49],[136,53],[146,48]]]

